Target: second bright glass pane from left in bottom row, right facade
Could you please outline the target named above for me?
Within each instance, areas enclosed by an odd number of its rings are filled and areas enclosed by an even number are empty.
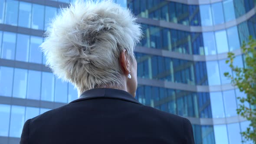
[[[227,124],[227,131],[230,144],[241,144],[242,138],[239,123]]]

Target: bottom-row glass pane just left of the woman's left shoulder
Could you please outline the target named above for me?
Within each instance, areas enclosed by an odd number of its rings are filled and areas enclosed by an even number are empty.
[[[20,137],[25,123],[25,107],[12,105],[10,120],[10,137]]]

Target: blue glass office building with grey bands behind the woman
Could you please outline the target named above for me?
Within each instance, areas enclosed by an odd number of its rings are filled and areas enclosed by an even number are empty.
[[[223,75],[227,52],[256,38],[256,0],[115,0],[141,23],[136,98],[188,118],[196,144],[241,144],[244,97]],[[78,97],[39,49],[47,23],[69,0],[0,0],[0,144],[17,144],[24,122]],[[248,105],[248,104],[247,104]]]

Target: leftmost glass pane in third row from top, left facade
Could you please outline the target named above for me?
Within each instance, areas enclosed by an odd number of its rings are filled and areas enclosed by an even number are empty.
[[[0,95],[10,97],[13,88],[13,68],[0,67]]]

